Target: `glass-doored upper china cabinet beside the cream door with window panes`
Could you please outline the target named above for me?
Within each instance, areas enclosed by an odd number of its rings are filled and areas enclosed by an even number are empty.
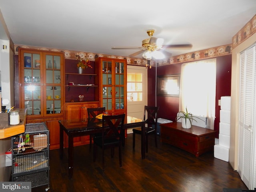
[[[127,114],[126,60],[98,57],[95,66],[100,107],[105,107],[109,114]]]

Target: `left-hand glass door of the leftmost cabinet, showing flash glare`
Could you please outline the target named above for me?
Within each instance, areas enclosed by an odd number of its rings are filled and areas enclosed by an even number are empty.
[[[24,53],[24,106],[28,115],[41,114],[41,58],[40,54]]]

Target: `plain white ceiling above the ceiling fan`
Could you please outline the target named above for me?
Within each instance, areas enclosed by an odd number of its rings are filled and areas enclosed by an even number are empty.
[[[138,50],[111,47],[141,46],[154,29],[164,44],[193,45],[175,56],[231,44],[256,0],[0,0],[0,10],[14,44],[129,56]]]

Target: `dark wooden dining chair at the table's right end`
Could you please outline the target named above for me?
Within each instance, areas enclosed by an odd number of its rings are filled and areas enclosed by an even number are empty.
[[[155,144],[157,147],[157,113],[159,107],[157,106],[145,106],[144,107],[144,121],[145,121],[145,136],[146,136],[146,152],[148,152],[148,135],[154,134],[155,136]],[[146,119],[146,113],[148,114],[148,118]],[[154,125],[154,126],[153,126]],[[141,128],[132,129],[132,147],[135,148],[135,134],[142,134]]]

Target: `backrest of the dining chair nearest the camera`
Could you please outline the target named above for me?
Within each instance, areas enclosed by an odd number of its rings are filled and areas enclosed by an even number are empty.
[[[106,139],[122,140],[125,114],[102,116],[102,143]]]

